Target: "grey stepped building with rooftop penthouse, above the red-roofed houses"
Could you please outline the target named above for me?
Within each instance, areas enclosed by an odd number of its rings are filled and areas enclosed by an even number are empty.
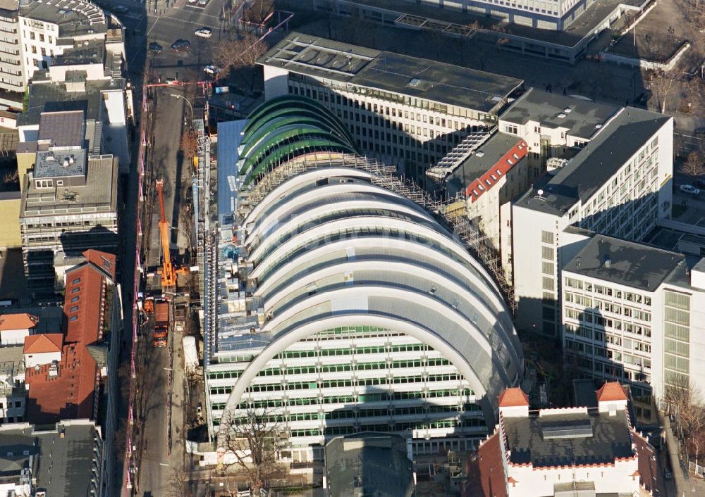
[[[83,111],[42,113],[20,207],[25,273],[35,296],[54,293],[55,253],[117,249],[118,161],[91,154],[85,137]]]

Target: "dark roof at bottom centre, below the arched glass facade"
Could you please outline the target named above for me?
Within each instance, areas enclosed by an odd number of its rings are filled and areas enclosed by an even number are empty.
[[[326,473],[334,496],[412,496],[412,463],[398,435],[361,433],[326,443]]]

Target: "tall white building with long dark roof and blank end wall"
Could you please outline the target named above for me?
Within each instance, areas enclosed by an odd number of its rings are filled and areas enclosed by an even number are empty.
[[[584,230],[643,239],[658,218],[670,216],[672,175],[673,118],[627,107],[517,199],[517,327],[558,339],[560,269],[587,241]]]

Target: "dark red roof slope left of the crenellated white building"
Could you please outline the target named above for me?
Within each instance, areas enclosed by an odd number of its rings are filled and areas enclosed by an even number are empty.
[[[462,497],[507,497],[507,477],[502,463],[499,434],[495,433],[477,449],[477,457],[467,468]]]

